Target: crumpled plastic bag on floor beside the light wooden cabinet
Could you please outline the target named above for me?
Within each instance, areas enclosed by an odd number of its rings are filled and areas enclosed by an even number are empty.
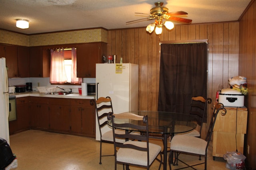
[[[226,152],[223,158],[227,161],[226,168],[228,169],[237,170],[245,168],[244,160],[246,157],[241,152]]]

